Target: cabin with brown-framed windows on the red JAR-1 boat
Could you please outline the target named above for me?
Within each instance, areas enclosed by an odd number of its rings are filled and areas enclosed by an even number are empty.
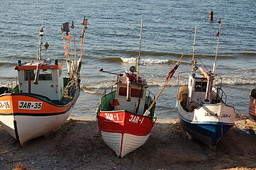
[[[144,81],[144,84],[137,84],[126,80],[126,76],[121,77],[121,83],[117,84],[116,99],[120,103],[119,106],[115,106],[115,110],[125,110],[130,113],[136,113],[143,115],[145,108],[145,96],[148,88],[148,84]],[[138,106],[139,105],[139,106]]]

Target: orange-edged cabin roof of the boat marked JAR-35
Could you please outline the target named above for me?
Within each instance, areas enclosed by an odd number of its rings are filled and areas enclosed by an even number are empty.
[[[35,60],[33,62],[29,62],[26,64],[22,64],[22,65],[16,65],[15,69],[16,70],[31,70],[31,69],[36,69],[38,64],[40,64],[42,61],[41,60]],[[53,64],[43,64],[40,69],[60,69],[61,67],[63,67],[65,63],[60,63],[55,65]]]

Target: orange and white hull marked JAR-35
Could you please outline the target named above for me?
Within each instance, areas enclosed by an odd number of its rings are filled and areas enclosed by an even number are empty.
[[[21,145],[35,137],[55,131],[65,123],[79,89],[71,101],[57,105],[33,94],[4,94],[0,102],[8,102],[9,108],[0,109],[0,123]]]

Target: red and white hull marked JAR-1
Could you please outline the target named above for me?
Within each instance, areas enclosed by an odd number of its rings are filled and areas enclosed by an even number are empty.
[[[150,117],[127,111],[101,111],[98,123],[102,139],[119,157],[144,145],[155,125]]]

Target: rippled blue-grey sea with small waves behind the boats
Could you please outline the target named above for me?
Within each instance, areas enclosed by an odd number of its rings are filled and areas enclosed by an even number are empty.
[[[99,99],[138,57],[140,19],[144,18],[140,76],[157,95],[165,77],[184,54],[178,72],[191,69],[194,30],[196,60],[212,70],[216,55],[218,20],[221,17],[216,73],[221,75],[227,103],[247,114],[250,89],[256,84],[255,1],[0,1],[0,85],[16,77],[18,60],[34,60],[43,25],[44,42],[50,47],[43,57],[65,62],[62,23],[74,21],[75,34],[81,34],[82,20],[88,30],[82,62],[82,91],[72,116],[95,118]],[[213,11],[213,21],[209,12]],[[77,47],[79,41],[77,42]],[[159,119],[177,118],[177,73],[157,101]]]

